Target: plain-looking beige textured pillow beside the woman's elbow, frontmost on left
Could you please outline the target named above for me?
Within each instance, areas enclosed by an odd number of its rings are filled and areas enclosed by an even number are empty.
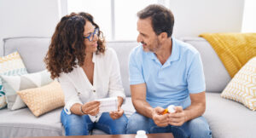
[[[45,112],[64,106],[64,94],[61,84],[56,81],[43,87],[21,90],[17,94],[20,95],[22,101],[37,117]]]

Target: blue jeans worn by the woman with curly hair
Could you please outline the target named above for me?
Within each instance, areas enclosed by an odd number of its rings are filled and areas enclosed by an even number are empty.
[[[113,120],[108,112],[104,112],[99,121],[93,123],[88,115],[67,114],[64,110],[61,112],[61,123],[66,135],[89,135],[92,129],[101,129],[110,135],[125,134],[127,121],[125,114]]]

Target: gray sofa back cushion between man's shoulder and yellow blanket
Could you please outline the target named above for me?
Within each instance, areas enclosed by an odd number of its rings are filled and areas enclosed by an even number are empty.
[[[231,78],[210,43],[201,37],[182,37],[181,40],[185,43],[190,43],[201,54],[206,78],[206,91],[220,93]]]

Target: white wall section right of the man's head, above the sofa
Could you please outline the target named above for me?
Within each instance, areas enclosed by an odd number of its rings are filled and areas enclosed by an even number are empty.
[[[244,0],[170,0],[175,37],[241,32]]]

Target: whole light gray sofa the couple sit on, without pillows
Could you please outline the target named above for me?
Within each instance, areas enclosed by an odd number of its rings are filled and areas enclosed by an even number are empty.
[[[214,138],[253,138],[256,126],[256,112],[236,101],[220,97],[221,91],[230,81],[230,76],[218,59],[211,45],[201,37],[180,38],[191,43],[201,53],[207,83],[207,111],[204,117],[212,129]],[[18,51],[28,72],[38,72],[45,69],[44,55],[48,50],[49,37],[13,37],[5,38],[0,48],[0,55],[9,55]],[[131,94],[128,82],[128,56],[137,42],[108,42],[108,46],[116,50],[119,57],[121,76],[127,96],[125,114],[129,118],[135,111],[131,103]],[[22,136],[53,136],[64,135],[60,119],[61,108],[48,112],[36,118],[28,108],[16,111],[0,110],[0,137]],[[104,134],[95,129],[93,135]]]

